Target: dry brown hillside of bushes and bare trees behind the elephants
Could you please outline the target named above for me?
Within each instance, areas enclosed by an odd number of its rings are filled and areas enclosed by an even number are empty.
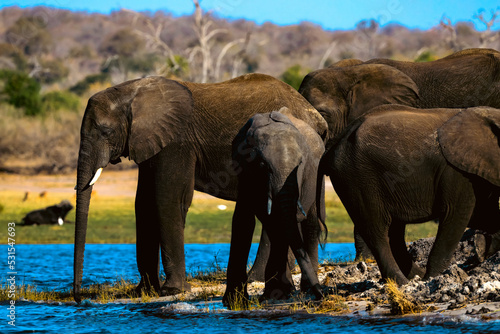
[[[147,75],[217,82],[262,72],[297,88],[309,71],[345,58],[429,61],[469,47],[499,49],[499,13],[481,10],[455,25],[443,17],[429,30],[367,19],[352,30],[332,31],[309,22],[221,19],[198,0],[193,14],[181,17],[6,7],[0,11],[0,103],[30,116],[77,110],[92,85]]]

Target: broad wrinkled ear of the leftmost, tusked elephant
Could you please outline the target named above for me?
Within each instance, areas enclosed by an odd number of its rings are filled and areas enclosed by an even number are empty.
[[[148,77],[136,82],[130,113],[129,156],[139,164],[183,140],[193,116],[193,98],[173,80]]]

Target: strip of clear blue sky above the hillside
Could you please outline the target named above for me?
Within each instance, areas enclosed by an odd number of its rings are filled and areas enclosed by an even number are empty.
[[[374,18],[382,25],[398,22],[409,28],[429,29],[439,24],[445,15],[452,23],[471,21],[476,29],[484,26],[473,19],[479,10],[490,18],[491,10],[500,10],[498,0],[201,0],[201,7],[219,17],[245,18],[261,24],[266,21],[279,25],[310,21],[325,29],[352,29],[363,19]],[[175,16],[194,11],[192,0],[0,0],[0,7],[18,5],[51,7],[89,12],[109,13],[126,8],[136,11],[164,10]],[[494,29],[498,30],[500,22]]]

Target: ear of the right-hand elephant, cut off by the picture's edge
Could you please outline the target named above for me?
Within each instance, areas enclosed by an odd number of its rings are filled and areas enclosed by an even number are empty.
[[[437,133],[441,151],[450,164],[500,186],[500,110],[465,109]]]

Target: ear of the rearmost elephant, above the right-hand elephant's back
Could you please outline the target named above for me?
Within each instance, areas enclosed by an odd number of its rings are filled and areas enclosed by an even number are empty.
[[[361,64],[347,67],[346,71],[352,71],[357,78],[347,98],[351,106],[349,121],[382,104],[418,106],[417,84],[394,67]]]

